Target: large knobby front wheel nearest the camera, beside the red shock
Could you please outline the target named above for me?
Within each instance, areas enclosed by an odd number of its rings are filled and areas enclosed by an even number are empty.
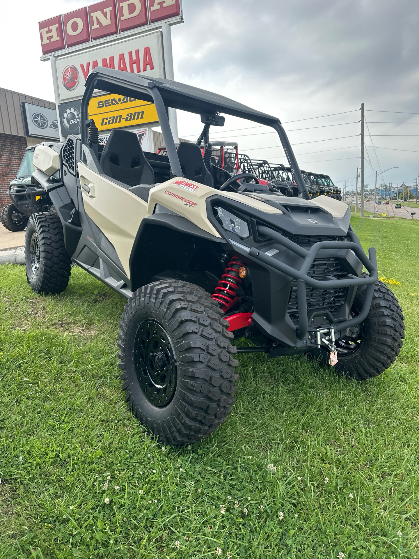
[[[192,283],[158,281],[128,299],[118,341],[122,389],[160,442],[193,443],[230,414],[238,361],[227,327],[211,295]]]

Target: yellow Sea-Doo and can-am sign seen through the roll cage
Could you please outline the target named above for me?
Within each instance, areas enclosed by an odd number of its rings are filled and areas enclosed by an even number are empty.
[[[98,130],[108,130],[157,122],[159,117],[154,103],[134,97],[104,95],[89,101],[89,119],[94,120]]]

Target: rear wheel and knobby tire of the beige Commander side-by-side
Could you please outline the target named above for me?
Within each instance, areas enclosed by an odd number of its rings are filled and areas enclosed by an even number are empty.
[[[65,250],[63,225],[56,214],[32,214],[26,226],[28,284],[37,293],[61,293],[70,280],[72,260]]]

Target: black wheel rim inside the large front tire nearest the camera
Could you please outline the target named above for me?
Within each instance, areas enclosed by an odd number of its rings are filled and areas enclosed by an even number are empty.
[[[172,342],[156,320],[144,320],[135,335],[134,363],[141,391],[156,408],[172,400],[177,363]]]

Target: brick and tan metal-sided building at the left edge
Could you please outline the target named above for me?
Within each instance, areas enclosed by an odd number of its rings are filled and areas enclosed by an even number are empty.
[[[16,177],[27,146],[45,141],[26,136],[22,102],[55,110],[55,103],[0,88],[0,207],[10,201],[7,188]]]

